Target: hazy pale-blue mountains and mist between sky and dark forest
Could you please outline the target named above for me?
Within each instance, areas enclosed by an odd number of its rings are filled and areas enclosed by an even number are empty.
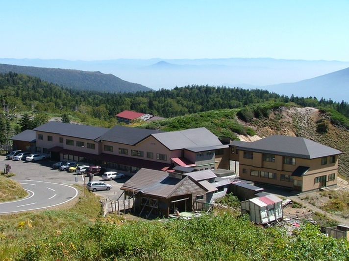
[[[262,88],[278,94],[348,101],[349,62],[227,59],[68,61],[0,59],[1,64],[99,71],[151,89],[186,85]],[[338,72],[337,72],[338,71]]]

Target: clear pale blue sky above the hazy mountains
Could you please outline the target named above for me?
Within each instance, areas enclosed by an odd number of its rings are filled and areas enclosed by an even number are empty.
[[[0,58],[349,61],[349,0],[0,4]]]

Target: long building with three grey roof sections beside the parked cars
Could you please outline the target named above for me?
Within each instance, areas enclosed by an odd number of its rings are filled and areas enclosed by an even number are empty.
[[[229,145],[205,128],[156,131],[116,125],[111,129],[49,122],[34,129],[36,151],[136,173],[141,168],[198,170],[229,166]]]

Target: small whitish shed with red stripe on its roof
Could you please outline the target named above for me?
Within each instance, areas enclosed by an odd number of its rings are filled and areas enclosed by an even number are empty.
[[[241,213],[248,214],[249,219],[257,224],[267,224],[283,216],[282,199],[273,194],[242,201],[240,206]]]

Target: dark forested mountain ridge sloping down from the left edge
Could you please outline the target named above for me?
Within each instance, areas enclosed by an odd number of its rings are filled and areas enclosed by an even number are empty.
[[[152,90],[149,87],[130,83],[112,74],[104,74],[100,71],[81,71],[75,69],[0,64],[0,73],[7,73],[9,71],[35,76],[41,80],[74,89],[105,92],[136,92]]]

